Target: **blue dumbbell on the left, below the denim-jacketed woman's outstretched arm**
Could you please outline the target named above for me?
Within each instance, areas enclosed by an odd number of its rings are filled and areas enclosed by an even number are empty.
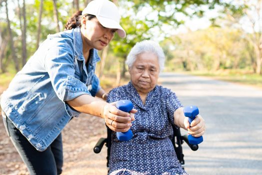
[[[116,107],[125,112],[130,112],[134,108],[134,105],[130,100],[123,99],[117,101]],[[131,129],[126,132],[116,132],[116,137],[120,141],[128,141],[133,137],[133,132],[131,131]]]

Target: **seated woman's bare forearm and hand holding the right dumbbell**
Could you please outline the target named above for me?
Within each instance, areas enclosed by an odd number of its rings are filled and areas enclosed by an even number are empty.
[[[200,114],[189,124],[188,118],[184,115],[184,107],[179,107],[174,112],[174,122],[177,126],[188,130],[188,133],[193,136],[201,136],[204,134],[206,126],[205,120]]]

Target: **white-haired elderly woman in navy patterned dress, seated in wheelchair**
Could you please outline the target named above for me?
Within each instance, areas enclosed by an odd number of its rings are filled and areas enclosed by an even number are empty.
[[[193,136],[201,136],[205,123],[198,115],[190,126],[176,94],[157,85],[164,60],[158,43],[150,40],[138,42],[126,61],[131,81],[109,92],[108,102],[129,99],[138,110],[131,126],[134,134],[131,140],[119,141],[116,132],[112,133],[110,175],[187,174],[177,159],[170,139],[172,124],[187,129]]]

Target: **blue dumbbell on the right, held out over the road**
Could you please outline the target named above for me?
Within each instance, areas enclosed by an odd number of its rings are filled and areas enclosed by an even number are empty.
[[[196,116],[199,114],[198,107],[195,105],[186,106],[184,107],[184,114],[185,116],[188,117],[189,123],[191,123],[196,118]],[[199,144],[202,141],[203,141],[203,136],[195,137],[192,135],[188,135],[188,142],[190,144]]]

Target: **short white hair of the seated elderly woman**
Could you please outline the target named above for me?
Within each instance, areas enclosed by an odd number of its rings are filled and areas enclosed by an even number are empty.
[[[137,55],[144,52],[150,52],[156,54],[158,58],[160,71],[164,69],[164,65],[165,65],[164,51],[159,45],[159,43],[153,40],[143,40],[141,42],[137,42],[133,46],[133,48],[127,55],[127,59],[126,59],[126,64],[128,65],[128,68],[132,67],[133,63],[136,60]]]

